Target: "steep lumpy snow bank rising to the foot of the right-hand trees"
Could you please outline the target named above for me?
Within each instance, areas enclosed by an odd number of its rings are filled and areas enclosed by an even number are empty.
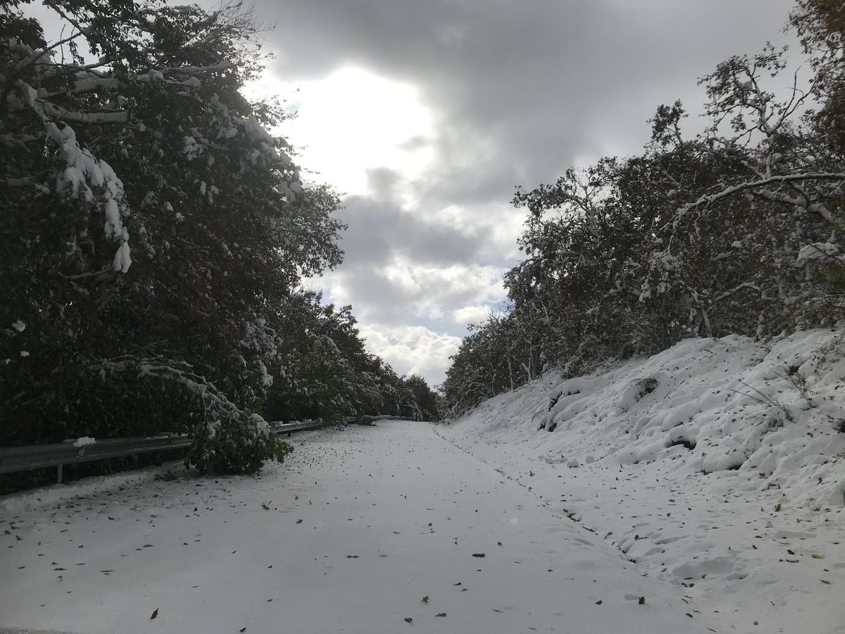
[[[771,347],[689,339],[601,374],[548,376],[461,424],[537,439],[552,461],[671,462],[673,478],[720,473],[713,482],[776,488],[793,506],[842,506],[845,331],[806,331]]]

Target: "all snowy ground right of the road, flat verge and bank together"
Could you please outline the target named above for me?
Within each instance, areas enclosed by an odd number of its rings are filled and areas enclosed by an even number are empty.
[[[845,632],[845,331],[548,374],[439,433],[715,631]]]

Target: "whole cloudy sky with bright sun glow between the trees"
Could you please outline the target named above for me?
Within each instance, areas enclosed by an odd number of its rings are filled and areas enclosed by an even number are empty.
[[[258,0],[308,178],[346,194],[346,260],[313,280],[373,353],[439,383],[504,300],[517,184],[637,151],[657,105],[783,41],[788,0]],[[695,119],[688,127],[694,128]]]

